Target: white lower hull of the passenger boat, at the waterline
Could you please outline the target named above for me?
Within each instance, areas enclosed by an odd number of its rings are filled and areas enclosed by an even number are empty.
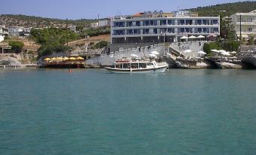
[[[142,69],[119,69],[119,68],[110,68],[106,67],[111,73],[164,73],[167,70],[167,66],[162,66],[158,68],[142,68]]]

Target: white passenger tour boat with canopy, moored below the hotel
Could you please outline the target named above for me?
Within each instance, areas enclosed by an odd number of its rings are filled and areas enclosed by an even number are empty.
[[[164,73],[168,64],[155,60],[117,60],[114,67],[105,67],[112,73]]]

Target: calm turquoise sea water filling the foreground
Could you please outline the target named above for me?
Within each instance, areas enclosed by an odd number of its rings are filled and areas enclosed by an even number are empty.
[[[0,70],[0,154],[256,154],[255,70]]]

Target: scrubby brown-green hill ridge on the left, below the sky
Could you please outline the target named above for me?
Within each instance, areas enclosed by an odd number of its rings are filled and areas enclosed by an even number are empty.
[[[75,26],[85,26],[96,20],[69,20],[68,23]],[[6,26],[24,26],[24,27],[46,27],[46,26],[58,26],[65,27],[66,20],[44,18],[44,17],[34,17],[26,15],[14,15],[14,14],[1,14],[0,15],[0,25]]]

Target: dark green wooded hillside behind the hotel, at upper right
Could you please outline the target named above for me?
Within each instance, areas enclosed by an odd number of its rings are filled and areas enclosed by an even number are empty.
[[[230,16],[236,12],[250,12],[256,9],[256,2],[235,2],[235,3],[226,3],[220,5],[211,5],[207,7],[198,7],[186,9],[187,11],[198,12],[199,16]]]

